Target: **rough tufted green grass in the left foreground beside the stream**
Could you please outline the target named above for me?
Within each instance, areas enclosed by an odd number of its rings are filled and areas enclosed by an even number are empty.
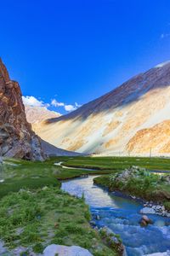
[[[58,188],[21,190],[0,201],[0,237],[10,250],[31,247],[42,253],[48,244],[78,245],[94,255],[116,255],[105,246],[88,221],[90,214],[83,199]]]

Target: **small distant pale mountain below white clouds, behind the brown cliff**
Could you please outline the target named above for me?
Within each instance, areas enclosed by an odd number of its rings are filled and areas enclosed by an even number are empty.
[[[57,118],[61,115],[60,113],[50,111],[45,107],[32,107],[25,105],[25,110],[26,119],[30,124],[39,123],[46,119]]]

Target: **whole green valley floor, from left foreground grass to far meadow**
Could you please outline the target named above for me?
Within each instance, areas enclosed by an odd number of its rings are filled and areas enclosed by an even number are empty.
[[[59,161],[71,169],[54,165]],[[170,171],[170,160],[118,157],[57,157],[45,162],[4,160],[0,172],[0,237],[4,247],[13,253],[14,248],[20,249],[16,255],[29,255],[28,250],[38,254],[48,244],[56,243],[85,247],[96,256],[116,255],[116,249],[108,247],[98,231],[91,228],[83,198],[64,193],[59,181],[87,174],[116,173],[129,166]]]

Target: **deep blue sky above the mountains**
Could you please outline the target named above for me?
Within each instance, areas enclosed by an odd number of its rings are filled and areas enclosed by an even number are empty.
[[[60,113],[170,60],[169,0],[6,0],[0,28],[11,79]]]

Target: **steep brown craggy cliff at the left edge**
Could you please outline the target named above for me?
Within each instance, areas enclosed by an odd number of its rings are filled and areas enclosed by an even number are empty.
[[[11,80],[0,60],[0,154],[26,160],[43,160],[39,137],[26,121],[20,85]]]

